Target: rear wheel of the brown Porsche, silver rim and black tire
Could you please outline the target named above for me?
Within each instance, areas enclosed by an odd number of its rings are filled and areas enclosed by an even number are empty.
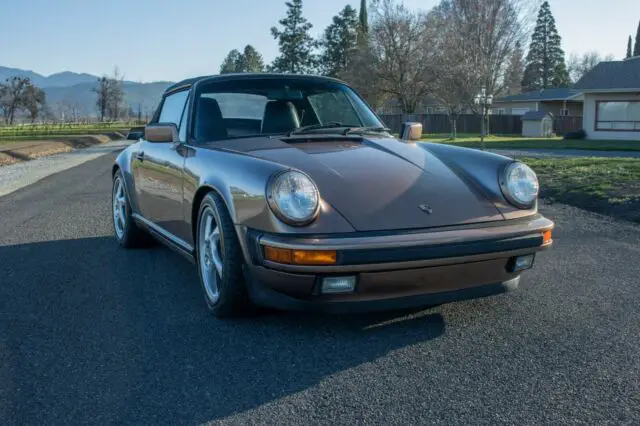
[[[127,189],[122,173],[118,171],[113,177],[111,197],[113,229],[116,240],[125,248],[144,247],[152,242],[149,234],[136,225],[131,217],[131,205],[127,197]]]

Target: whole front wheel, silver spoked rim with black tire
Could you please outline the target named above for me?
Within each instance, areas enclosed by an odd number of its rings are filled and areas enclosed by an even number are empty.
[[[202,200],[196,236],[196,260],[207,308],[218,318],[246,313],[251,302],[242,275],[242,251],[227,208],[215,193]]]

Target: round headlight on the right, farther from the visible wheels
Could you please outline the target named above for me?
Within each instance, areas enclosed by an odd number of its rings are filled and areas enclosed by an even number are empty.
[[[528,209],[538,198],[538,177],[529,166],[514,162],[505,169],[500,180],[502,193],[511,204]]]

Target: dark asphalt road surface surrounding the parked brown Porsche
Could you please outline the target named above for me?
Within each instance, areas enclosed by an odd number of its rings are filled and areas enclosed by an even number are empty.
[[[640,228],[561,205],[517,292],[219,321],[112,238],[112,154],[0,198],[0,423],[640,423]]]

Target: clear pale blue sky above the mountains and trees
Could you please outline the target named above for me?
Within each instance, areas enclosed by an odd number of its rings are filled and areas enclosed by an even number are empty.
[[[318,36],[345,4],[304,0]],[[135,81],[180,80],[218,72],[233,48],[254,45],[266,62],[277,55],[269,29],[284,0],[3,0],[0,65],[49,75],[102,74],[120,67]],[[427,10],[437,0],[405,0]],[[11,6],[8,6],[11,4]],[[635,38],[640,0],[550,0],[567,54],[599,51],[621,58]]]

